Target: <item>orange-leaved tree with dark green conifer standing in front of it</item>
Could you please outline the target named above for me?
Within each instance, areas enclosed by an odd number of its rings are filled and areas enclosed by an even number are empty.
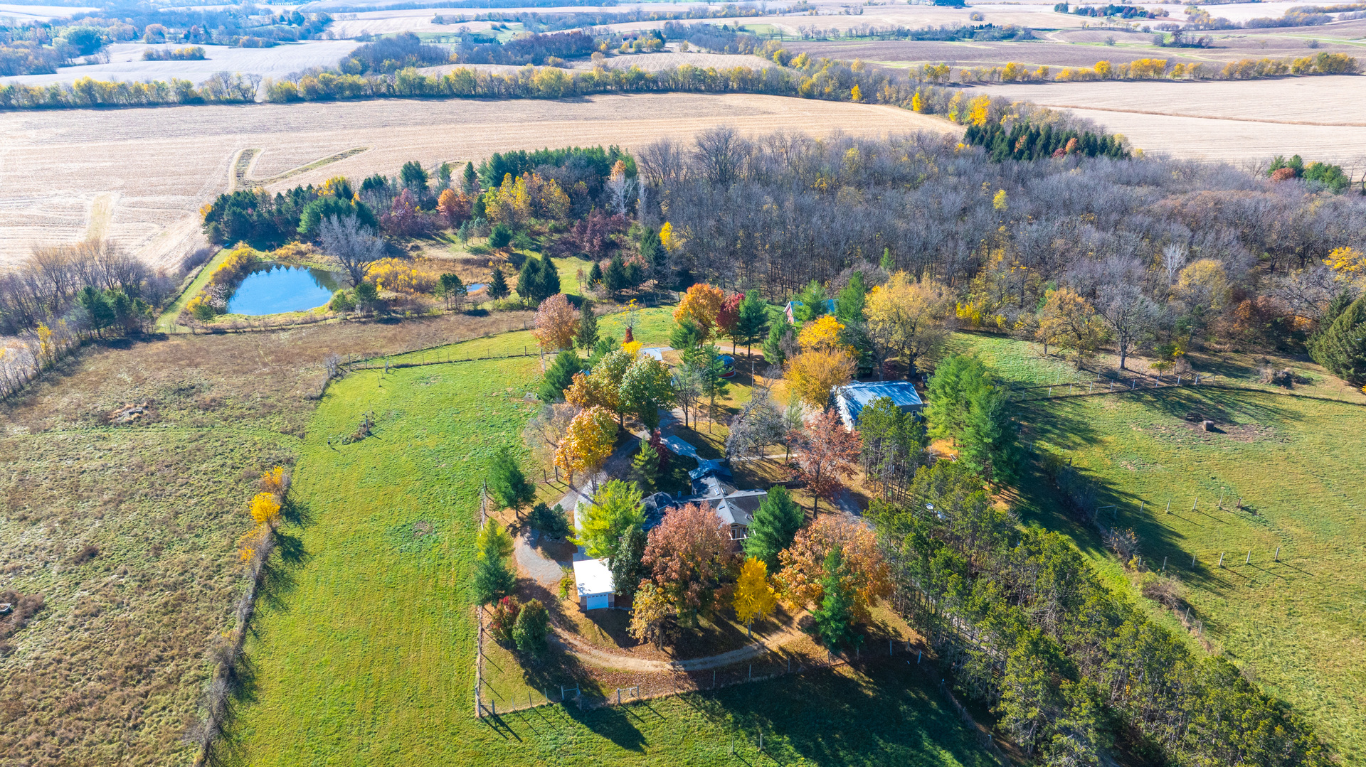
[[[844,560],[841,585],[854,598],[850,611],[867,620],[869,607],[892,594],[891,568],[877,547],[877,535],[843,515],[817,519],[796,532],[792,546],[779,551],[779,594],[795,607],[820,605],[825,596],[822,581],[829,575],[825,558],[835,547]]]

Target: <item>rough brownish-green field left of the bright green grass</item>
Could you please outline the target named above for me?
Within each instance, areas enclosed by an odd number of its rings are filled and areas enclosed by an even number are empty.
[[[0,766],[189,764],[180,737],[243,587],[234,549],[251,527],[247,500],[264,468],[294,463],[326,353],[399,352],[529,321],[92,345],[0,408],[0,591],[45,602],[0,637]],[[138,420],[108,422],[130,404],[145,405]]]

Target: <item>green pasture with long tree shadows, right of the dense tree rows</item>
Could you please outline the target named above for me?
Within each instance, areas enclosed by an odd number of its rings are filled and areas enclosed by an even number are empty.
[[[1074,390],[1082,392],[1096,378],[1056,358],[1038,359],[1034,344],[986,336],[959,336],[958,343],[1015,382],[1061,377],[1055,394],[1065,393],[1068,381],[1079,381]],[[1191,641],[1202,633],[1213,651],[1306,715],[1346,763],[1361,763],[1366,397],[1307,360],[1277,360],[1277,367],[1288,363],[1314,379],[1288,393],[1261,385],[1254,362],[1191,362],[1206,375],[1218,374],[1216,381],[1257,390],[1183,386],[1019,405],[1024,441],[1041,456],[1055,454],[1064,465],[1071,460],[1093,480],[1094,508],[1115,506],[1097,523],[1132,530],[1146,569],[1161,570],[1167,562],[1190,606],[1190,629],[1175,611],[1138,596],[1137,576],[1105,550],[1097,527],[1065,513],[1049,479],[1024,483],[1022,517],[1068,532],[1116,588],[1132,590],[1158,621]],[[1042,397],[1045,390],[1018,396]],[[1217,431],[1187,422],[1193,412],[1212,419]]]

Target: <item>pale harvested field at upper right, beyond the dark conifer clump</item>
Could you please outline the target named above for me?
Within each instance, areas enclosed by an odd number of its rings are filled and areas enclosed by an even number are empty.
[[[1146,151],[1229,162],[1302,154],[1348,162],[1366,156],[1366,78],[1231,82],[1007,85],[993,96],[1089,117]],[[1274,105],[1272,108],[1270,105]]]

